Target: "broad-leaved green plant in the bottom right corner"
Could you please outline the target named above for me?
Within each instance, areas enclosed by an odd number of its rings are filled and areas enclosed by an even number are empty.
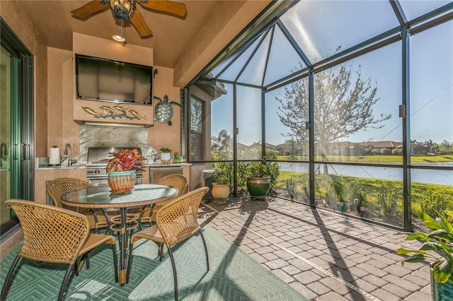
[[[453,225],[437,211],[436,219],[423,211],[417,213],[430,232],[410,233],[406,240],[419,240],[423,244],[418,249],[399,248],[396,254],[412,254],[401,264],[430,260],[432,300],[446,300],[442,296],[453,295]]]

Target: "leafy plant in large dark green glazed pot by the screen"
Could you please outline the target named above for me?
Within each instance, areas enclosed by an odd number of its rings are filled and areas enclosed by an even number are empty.
[[[278,163],[265,159],[252,161],[246,165],[247,190],[252,199],[265,199],[271,187],[277,182],[280,173]]]

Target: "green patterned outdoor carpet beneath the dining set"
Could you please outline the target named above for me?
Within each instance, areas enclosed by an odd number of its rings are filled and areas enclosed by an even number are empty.
[[[179,300],[307,300],[272,272],[251,259],[209,226],[202,225],[210,256],[206,271],[200,235],[173,247],[178,271]],[[0,266],[1,285],[18,252],[16,247]],[[7,300],[57,300],[64,265],[21,259]],[[72,273],[64,300],[174,300],[173,273],[168,253],[159,262],[157,245],[139,241],[129,283],[120,286],[113,274],[112,249],[90,253],[90,268]]]

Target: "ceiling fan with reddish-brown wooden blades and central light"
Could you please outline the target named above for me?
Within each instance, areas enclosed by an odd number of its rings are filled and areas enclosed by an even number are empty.
[[[92,16],[107,11],[110,8],[113,18],[122,22],[129,21],[139,33],[140,37],[149,37],[153,33],[144,21],[142,13],[137,10],[135,4],[140,4],[143,8],[158,13],[168,13],[172,16],[185,18],[187,13],[185,4],[180,4],[168,0],[95,0],[90,1],[84,6],[71,11],[72,16],[81,20],[86,20]]]

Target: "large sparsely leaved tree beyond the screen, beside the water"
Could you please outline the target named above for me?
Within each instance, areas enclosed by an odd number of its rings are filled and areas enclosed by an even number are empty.
[[[391,115],[374,117],[372,107],[379,101],[377,83],[362,78],[359,70],[352,77],[351,67],[344,64],[338,71],[329,69],[316,73],[314,85],[315,143],[322,155],[326,155],[333,141],[340,141],[357,131],[367,128],[380,129],[379,123]],[[287,126],[283,134],[298,143],[308,139],[305,121],[309,120],[309,84],[306,79],[296,81],[285,88],[284,98],[277,112],[280,122]]]

